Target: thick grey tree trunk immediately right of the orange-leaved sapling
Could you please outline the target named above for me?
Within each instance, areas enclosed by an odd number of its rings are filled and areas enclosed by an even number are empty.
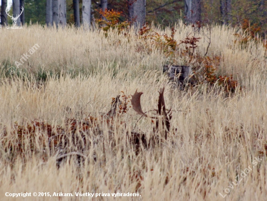
[[[134,28],[146,23],[146,0],[129,0],[129,17]]]

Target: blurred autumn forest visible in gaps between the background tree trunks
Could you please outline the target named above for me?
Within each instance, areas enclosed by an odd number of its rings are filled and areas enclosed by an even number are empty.
[[[161,25],[163,28],[173,26],[179,19],[186,21],[186,1],[188,0],[146,0],[146,22]],[[265,37],[267,33],[267,2],[266,0],[193,0],[200,3],[201,21],[209,23],[227,24],[250,28],[253,33],[259,33]],[[8,1],[8,7],[12,2]],[[67,24],[74,24],[73,0],[66,0]],[[80,18],[82,18],[82,0],[79,2]],[[27,24],[46,23],[46,0],[26,0],[25,22]],[[128,0],[108,0],[107,9],[121,11],[121,21],[129,16]],[[98,10],[101,8],[100,0],[92,0],[91,14],[94,18],[100,18]],[[8,23],[12,20],[8,17]]]

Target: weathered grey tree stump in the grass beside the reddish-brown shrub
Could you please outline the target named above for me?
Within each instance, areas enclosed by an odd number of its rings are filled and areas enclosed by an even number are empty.
[[[164,65],[163,72],[167,72],[169,80],[174,82],[179,89],[184,89],[187,84],[193,84],[192,79],[190,79],[192,75],[190,66]]]

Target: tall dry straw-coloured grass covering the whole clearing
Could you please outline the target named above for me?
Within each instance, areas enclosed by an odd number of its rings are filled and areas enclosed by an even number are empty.
[[[178,41],[193,32],[182,23],[176,29]],[[158,31],[170,34],[169,29]],[[137,45],[142,47],[144,42],[134,32],[123,37],[111,31],[106,38],[98,30],[38,26],[0,29],[0,200],[91,199],[76,197],[75,192],[141,195],[116,200],[266,200],[266,49],[253,42],[241,48],[234,44],[236,32],[237,29],[229,27],[212,27],[209,55],[222,55],[220,71],[233,74],[243,88],[226,98],[216,87],[210,92],[206,92],[205,86],[193,92],[171,88],[162,74],[167,58],[156,49],[149,53],[136,51]],[[201,33],[200,37],[197,51],[203,55],[207,42]],[[59,76],[50,76],[43,85],[34,79],[4,77],[6,70],[36,43],[40,48],[16,73],[36,75],[47,71]],[[175,59],[177,64],[188,64],[186,57]],[[127,132],[142,131],[151,136],[153,124],[147,118],[137,122],[139,116],[132,109],[122,117],[126,126],[117,124],[113,130],[116,146],[104,137],[101,143],[83,150],[86,159],[80,165],[69,157],[58,168],[59,153],[50,151],[47,141],[42,144],[36,140],[34,150],[25,145],[22,153],[6,147],[6,141],[16,143],[12,134],[16,122],[26,125],[35,119],[64,128],[66,117],[83,119],[91,114],[100,118],[100,113],[110,109],[111,97],[121,94],[120,91],[134,94],[136,88],[144,92],[143,111],[149,111],[156,108],[157,91],[162,86],[167,108],[176,110],[171,119],[171,134],[167,141],[143,149],[138,155],[127,142]],[[66,111],[67,107],[71,113]],[[101,125],[103,136],[109,135],[109,129],[108,125]],[[90,134],[94,135],[94,130]],[[36,131],[35,135],[38,139],[45,134]],[[30,142],[26,140],[27,143]],[[252,168],[255,157],[262,161]],[[233,189],[228,187],[249,165],[252,171],[240,184],[233,185]],[[231,192],[223,199],[219,193],[225,195],[225,188]],[[5,196],[6,192],[63,192],[73,193],[74,197],[10,198]]]

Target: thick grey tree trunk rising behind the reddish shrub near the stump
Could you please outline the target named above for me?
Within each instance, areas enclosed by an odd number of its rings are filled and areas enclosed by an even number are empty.
[[[184,14],[187,23],[197,23],[201,21],[200,0],[184,0]]]

